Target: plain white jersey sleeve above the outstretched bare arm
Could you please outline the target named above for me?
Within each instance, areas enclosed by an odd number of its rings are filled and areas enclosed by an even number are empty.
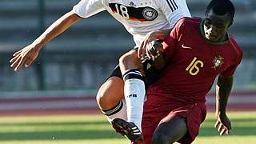
[[[88,18],[103,10],[106,9],[102,3],[102,0],[81,0],[73,7],[74,13],[78,14],[78,16],[82,18]]]

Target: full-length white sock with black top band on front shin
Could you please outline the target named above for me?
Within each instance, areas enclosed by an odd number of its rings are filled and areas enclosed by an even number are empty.
[[[123,75],[125,80],[124,94],[127,107],[127,122],[134,122],[142,131],[142,113],[146,94],[145,83],[139,70],[127,70]]]

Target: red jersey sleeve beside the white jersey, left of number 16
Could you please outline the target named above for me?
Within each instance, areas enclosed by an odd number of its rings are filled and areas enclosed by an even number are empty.
[[[171,30],[170,35],[166,38],[166,40],[162,44],[167,61],[171,58],[172,54],[174,54],[174,51],[177,50],[178,48],[178,41],[182,36],[185,21],[186,21],[186,18],[180,19],[175,24],[173,30]]]

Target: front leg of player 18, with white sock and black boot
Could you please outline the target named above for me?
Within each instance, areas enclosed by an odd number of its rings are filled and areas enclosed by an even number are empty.
[[[142,141],[141,129],[138,129],[138,126],[141,126],[142,111],[145,98],[145,94],[142,94],[141,92],[142,90],[145,90],[145,84],[142,81],[142,73],[144,72],[143,69],[146,72],[147,86],[158,78],[158,73],[154,70],[154,67],[151,65],[152,64],[150,63],[149,60],[141,62],[137,58],[137,51],[135,50],[131,50],[130,52],[124,54],[122,58],[120,58],[120,66],[122,67],[121,69],[122,71],[126,70],[126,74],[124,74],[123,78],[126,82],[125,87],[128,89],[125,89],[126,105],[128,102],[128,121],[126,122],[120,118],[115,118],[112,121],[112,125],[118,133],[126,135],[126,137],[129,138],[134,143],[139,143]],[[139,73],[138,70],[141,73]],[[134,95],[135,97],[133,97]],[[152,134],[153,132],[154,131],[152,131]]]

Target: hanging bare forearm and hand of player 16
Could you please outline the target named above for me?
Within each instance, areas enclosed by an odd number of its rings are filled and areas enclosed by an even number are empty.
[[[223,78],[218,77],[218,85],[216,86],[216,116],[217,122],[214,127],[218,129],[220,135],[230,134],[231,123],[226,115],[226,105],[233,86],[233,76]]]

